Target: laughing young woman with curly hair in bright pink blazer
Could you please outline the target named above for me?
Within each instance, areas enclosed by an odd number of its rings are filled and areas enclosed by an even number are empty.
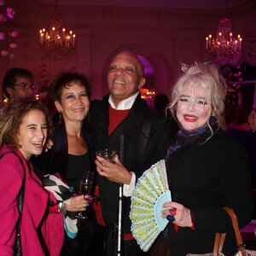
[[[58,237],[55,248],[45,247],[46,237],[55,236],[44,223],[49,196],[30,162],[32,155],[42,153],[48,136],[49,122],[43,103],[23,98],[3,104],[0,109],[0,154],[4,154],[0,160],[1,255],[14,255],[20,216],[18,199],[22,188],[20,237],[23,255],[56,255],[55,249],[62,245],[63,239]]]

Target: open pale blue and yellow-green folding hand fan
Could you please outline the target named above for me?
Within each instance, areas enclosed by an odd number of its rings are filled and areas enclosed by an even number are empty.
[[[163,204],[172,201],[165,160],[143,173],[131,195],[131,232],[144,252],[152,246],[168,220],[161,218]]]

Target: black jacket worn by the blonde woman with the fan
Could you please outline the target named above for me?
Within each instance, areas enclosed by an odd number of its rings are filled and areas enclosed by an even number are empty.
[[[213,137],[209,131],[178,148],[166,161],[172,201],[193,212],[195,230],[168,224],[172,255],[212,253],[215,233],[227,233],[224,255],[236,249],[236,238],[229,215],[223,207],[233,208],[240,228],[253,216],[250,167],[245,149],[225,131]],[[207,142],[206,142],[207,140]]]

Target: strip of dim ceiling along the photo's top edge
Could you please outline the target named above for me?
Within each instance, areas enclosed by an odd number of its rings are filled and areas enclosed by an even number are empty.
[[[38,0],[44,3],[76,6],[127,6],[170,9],[236,9],[255,0]]]

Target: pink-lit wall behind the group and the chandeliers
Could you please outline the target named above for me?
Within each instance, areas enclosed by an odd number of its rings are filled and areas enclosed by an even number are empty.
[[[106,72],[114,53],[131,49],[151,62],[155,72],[156,92],[168,96],[181,73],[180,62],[204,61],[205,38],[215,34],[223,11],[173,10],[121,7],[60,6],[58,12],[68,29],[78,34],[77,49],[61,61],[44,60],[39,48],[39,29],[49,26],[53,5],[35,0],[10,1],[16,9],[14,26],[20,32],[15,59],[0,56],[0,79],[10,67],[26,67],[39,84],[63,70],[85,73],[91,81],[92,97],[101,98],[108,91]],[[256,34],[256,3],[233,9],[229,18],[233,32],[241,33],[243,48]]]

